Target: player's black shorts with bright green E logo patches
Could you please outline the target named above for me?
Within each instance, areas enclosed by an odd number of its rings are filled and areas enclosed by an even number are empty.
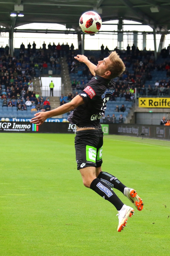
[[[74,143],[78,170],[102,165],[102,130],[77,131]]]

